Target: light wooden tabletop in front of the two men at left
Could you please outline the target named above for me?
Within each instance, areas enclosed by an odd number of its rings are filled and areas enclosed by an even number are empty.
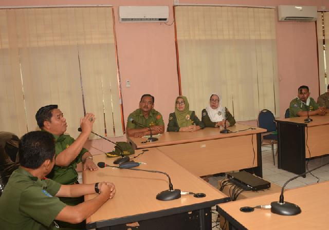
[[[139,154],[136,150],[136,156]],[[134,156],[134,155],[132,155]],[[105,162],[114,165],[116,158],[107,158],[105,155],[94,156],[94,162]],[[158,173],[119,169],[113,167],[99,168],[97,171],[86,170],[83,172],[83,183],[96,183],[109,181],[116,185],[116,195],[108,200],[86,222],[107,221],[106,225],[116,225],[135,222],[147,218],[148,215],[170,215],[189,212],[227,200],[227,196],[203,179],[192,175],[189,171],[172,161],[156,148],[146,151],[135,158],[136,162],[144,162],[136,168],[164,171],[171,177],[174,188],[193,193],[205,193],[204,198],[195,198],[193,195],[182,195],[172,201],[156,200],[160,191],[169,189],[167,176]],[[116,165],[118,166],[118,165]],[[85,200],[97,196],[86,195]]]

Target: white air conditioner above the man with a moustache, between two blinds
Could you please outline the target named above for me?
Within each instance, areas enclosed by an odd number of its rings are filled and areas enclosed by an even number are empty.
[[[168,22],[169,6],[119,6],[120,22]]]

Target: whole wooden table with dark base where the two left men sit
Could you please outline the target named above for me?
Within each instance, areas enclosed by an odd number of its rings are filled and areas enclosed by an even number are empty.
[[[136,156],[138,152],[136,151]],[[114,165],[116,158],[95,155],[94,162]],[[144,162],[136,168],[160,170],[171,177],[174,188],[205,193],[204,198],[182,195],[172,201],[156,200],[156,195],[169,189],[163,174],[112,167],[83,171],[83,183],[114,182],[116,195],[89,217],[87,229],[127,229],[126,223],[138,222],[138,229],[211,229],[211,206],[229,198],[203,179],[192,175],[156,148],[135,159]],[[87,195],[85,200],[97,195]]]

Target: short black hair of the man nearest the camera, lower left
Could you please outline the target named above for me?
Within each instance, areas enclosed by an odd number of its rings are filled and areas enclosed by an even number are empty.
[[[31,131],[26,133],[19,144],[20,163],[23,167],[36,169],[55,155],[55,141],[51,133]]]

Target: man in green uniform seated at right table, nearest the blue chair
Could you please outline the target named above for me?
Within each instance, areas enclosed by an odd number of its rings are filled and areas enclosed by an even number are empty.
[[[309,95],[310,92],[307,86],[302,85],[298,88],[298,97],[290,102],[290,118],[324,115],[326,113],[325,108],[319,107]]]

